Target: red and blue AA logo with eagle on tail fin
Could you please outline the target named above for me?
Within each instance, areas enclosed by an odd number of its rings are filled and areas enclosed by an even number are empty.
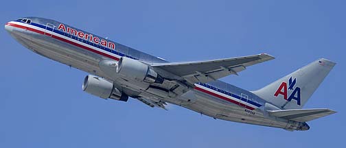
[[[284,99],[286,99],[287,101],[292,101],[292,99],[295,99],[297,101],[297,104],[300,106],[301,105],[301,88],[295,87],[296,83],[297,83],[297,78],[292,80],[292,77],[290,77],[290,79],[288,79],[288,86],[286,82],[282,82],[279,88],[277,88],[274,96],[278,97],[279,95],[283,95]],[[287,97],[288,92],[290,92],[290,97]]]

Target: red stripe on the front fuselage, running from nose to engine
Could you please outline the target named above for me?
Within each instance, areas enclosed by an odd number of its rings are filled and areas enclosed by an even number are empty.
[[[78,43],[76,43],[76,42],[72,42],[71,40],[67,40],[67,39],[65,39],[65,38],[61,38],[60,36],[56,36],[56,35],[53,35],[53,34],[49,34],[49,33],[47,33],[47,32],[42,32],[41,30],[38,30],[38,29],[34,29],[34,28],[31,28],[31,27],[25,27],[25,26],[23,26],[23,25],[18,25],[18,24],[14,24],[14,23],[6,23],[6,25],[10,25],[10,26],[12,26],[12,27],[18,27],[18,28],[21,28],[21,29],[27,29],[27,30],[30,30],[31,32],[36,32],[36,33],[38,33],[38,34],[43,34],[43,35],[51,36],[52,38],[55,38],[55,39],[57,39],[57,40],[61,40],[62,42],[67,42],[67,43],[69,43],[69,44],[71,44],[71,45],[75,45],[76,47],[80,47],[80,48],[82,48],[82,49],[86,49],[86,50],[91,51],[91,52],[93,52],[93,53],[100,54],[100,55],[105,56],[105,57],[107,57],[107,58],[111,58],[111,59],[117,60],[117,61],[119,60],[119,58],[117,58],[117,57],[115,57],[115,56],[111,56],[111,55],[108,55],[107,53],[103,53],[103,52],[101,52],[101,51],[97,51],[97,50],[95,50],[95,49],[92,49],[92,48],[90,48],[90,47],[86,47],[86,46],[84,46],[84,45],[80,45],[80,44],[78,44]]]

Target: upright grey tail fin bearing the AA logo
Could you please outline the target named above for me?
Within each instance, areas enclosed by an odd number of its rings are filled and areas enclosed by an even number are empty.
[[[336,63],[321,58],[252,93],[281,109],[299,109]]]

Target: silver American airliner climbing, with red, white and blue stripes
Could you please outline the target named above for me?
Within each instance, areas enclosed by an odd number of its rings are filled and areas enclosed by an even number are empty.
[[[168,62],[107,38],[47,18],[5,23],[21,45],[41,56],[85,71],[82,90],[103,99],[137,99],[167,110],[168,103],[214,119],[309,130],[308,121],[334,114],[303,106],[335,66],[320,58],[259,90],[244,90],[218,79],[273,60],[266,53],[218,60]]]

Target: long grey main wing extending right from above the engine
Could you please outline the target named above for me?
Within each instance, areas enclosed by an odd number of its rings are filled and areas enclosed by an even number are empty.
[[[210,82],[244,71],[247,66],[259,64],[268,60],[273,60],[274,57],[266,53],[254,56],[244,56],[238,58],[226,58],[219,60],[207,60],[200,62],[171,62],[152,64],[153,67],[163,69],[174,75],[183,77],[190,84],[197,82]]]

